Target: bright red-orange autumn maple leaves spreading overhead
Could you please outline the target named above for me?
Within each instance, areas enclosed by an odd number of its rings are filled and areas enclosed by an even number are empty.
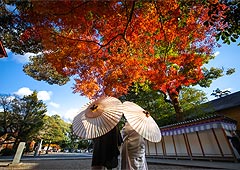
[[[74,77],[81,95],[118,97],[148,80],[174,101],[211,58],[215,29],[203,24],[211,5],[223,8],[216,0],[32,1],[21,41],[40,40],[45,59]]]

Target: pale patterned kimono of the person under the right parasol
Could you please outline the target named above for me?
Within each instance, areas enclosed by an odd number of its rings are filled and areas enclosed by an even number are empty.
[[[147,170],[145,140],[126,122],[122,129],[121,169]]]

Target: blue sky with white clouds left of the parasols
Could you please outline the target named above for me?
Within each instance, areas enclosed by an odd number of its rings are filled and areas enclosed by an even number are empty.
[[[0,94],[20,96],[38,91],[38,98],[47,104],[48,115],[59,114],[64,120],[71,121],[80,108],[89,102],[86,97],[72,93],[73,82],[64,86],[49,85],[27,76],[22,70],[30,54],[14,55],[7,50],[8,57],[0,58]]]

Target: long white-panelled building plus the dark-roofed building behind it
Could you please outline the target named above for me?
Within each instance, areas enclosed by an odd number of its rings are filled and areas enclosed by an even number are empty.
[[[240,134],[240,92],[209,101],[200,108],[211,116],[160,127],[162,140],[159,143],[147,141],[146,155],[239,161],[239,139],[237,147],[231,139],[235,132]]]

